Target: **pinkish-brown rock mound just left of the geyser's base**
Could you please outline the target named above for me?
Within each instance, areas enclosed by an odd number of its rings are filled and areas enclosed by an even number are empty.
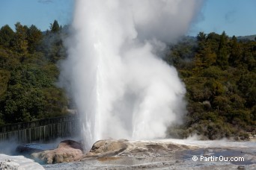
[[[79,161],[82,157],[82,145],[73,140],[64,140],[58,148],[31,154],[31,157],[46,163],[69,163]]]

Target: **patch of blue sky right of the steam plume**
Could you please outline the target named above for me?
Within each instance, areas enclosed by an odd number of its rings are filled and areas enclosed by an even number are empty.
[[[256,34],[255,0],[206,0],[189,34],[225,31],[229,36]]]

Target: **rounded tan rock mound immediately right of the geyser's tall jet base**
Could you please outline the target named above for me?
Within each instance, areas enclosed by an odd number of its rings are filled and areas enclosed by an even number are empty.
[[[127,149],[127,144],[124,140],[99,140],[94,143],[85,157],[110,157],[121,153]]]

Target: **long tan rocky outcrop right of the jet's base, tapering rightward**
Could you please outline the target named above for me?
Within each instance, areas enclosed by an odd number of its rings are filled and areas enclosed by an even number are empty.
[[[123,157],[144,159],[145,157],[157,157],[160,154],[168,156],[173,154],[174,151],[183,151],[188,148],[186,145],[177,145],[171,142],[136,142],[125,139],[107,139],[95,142],[91,151],[85,154],[81,160],[96,159],[104,162],[115,160],[117,162]]]

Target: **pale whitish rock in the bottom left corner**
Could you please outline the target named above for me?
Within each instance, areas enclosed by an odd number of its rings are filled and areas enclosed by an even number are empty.
[[[43,166],[40,166],[39,163],[35,163],[34,160],[25,158],[23,156],[9,156],[6,154],[0,154],[0,169],[1,170],[19,170],[19,169],[28,169],[34,170],[43,169]]]

